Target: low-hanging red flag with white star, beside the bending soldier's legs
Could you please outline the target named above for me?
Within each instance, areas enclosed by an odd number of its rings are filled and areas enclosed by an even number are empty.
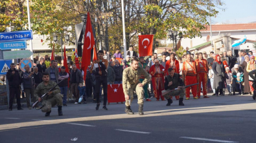
[[[124,102],[122,84],[108,84],[108,102]]]

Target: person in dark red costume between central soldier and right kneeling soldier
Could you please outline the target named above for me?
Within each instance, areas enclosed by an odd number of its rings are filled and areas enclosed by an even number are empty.
[[[158,101],[161,97],[161,100],[165,100],[165,97],[162,95],[162,90],[165,90],[164,84],[164,75],[165,75],[165,68],[159,64],[158,59],[155,59],[155,64],[151,66],[149,73],[152,76],[152,86],[154,90],[154,94],[156,100]]]

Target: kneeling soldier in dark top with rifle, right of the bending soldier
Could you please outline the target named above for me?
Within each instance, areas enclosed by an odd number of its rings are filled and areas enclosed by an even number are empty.
[[[183,89],[183,81],[180,74],[174,73],[173,68],[168,69],[167,77],[165,78],[165,90],[162,91],[163,96],[167,99],[166,106],[172,104],[171,96],[180,96],[179,106],[184,106],[183,97],[185,95],[185,89]]]

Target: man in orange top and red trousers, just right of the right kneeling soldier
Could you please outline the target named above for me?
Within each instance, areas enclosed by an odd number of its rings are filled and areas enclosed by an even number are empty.
[[[196,79],[196,62],[192,61],[192,57],[190,54],[187,55],[187,61],[183,62],[183,71],[182,71],[183,79],[185,82],[185,85],[189,84],[195,84],[197,83]],[[192,95],[194,99],[198,99],[196,97],[196,90],[198,85],[191,86],[189,88],[186,88],[185,94],[186,94],[186,100],[189,100],[190,98],[190,90],[192,91]]]

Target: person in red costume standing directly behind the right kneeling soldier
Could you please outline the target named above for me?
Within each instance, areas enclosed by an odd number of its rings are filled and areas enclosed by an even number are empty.
[[[180,73],[180,63],[175,59],[174,53],[170,53],[170,60],[168,60],[165,64],[165,75],[168,76],[168,69],[172,68],[174,73]],[[175,96],[176,100],[179,100],[180,96]],[[172,97],[171,97],[172,99]]]

